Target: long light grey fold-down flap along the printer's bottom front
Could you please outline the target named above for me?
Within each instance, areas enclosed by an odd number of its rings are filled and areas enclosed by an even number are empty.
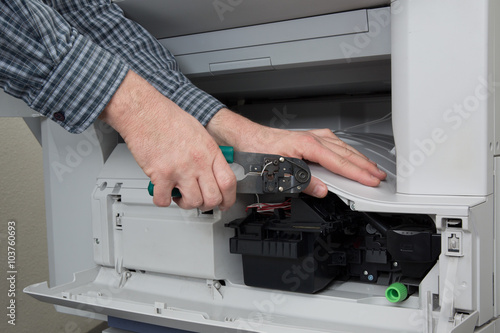
[[[56,305],[207,333],[419,332],[408,322],[423,315],[418,296],[395,306],[385,300],[385,287],[376,285],[344,282],[305,295],[231,284],[219,292],[206,280],[140,272],[121,288],[119,282],[114,269],[95,267],[69,284],[48,288],[43,282],[24,292]]]

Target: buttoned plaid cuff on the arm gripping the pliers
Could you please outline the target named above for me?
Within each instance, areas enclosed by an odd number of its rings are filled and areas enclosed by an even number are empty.
[[[71,133],[87,129],[128,72],[118,57],[78,35],[31,107]]]

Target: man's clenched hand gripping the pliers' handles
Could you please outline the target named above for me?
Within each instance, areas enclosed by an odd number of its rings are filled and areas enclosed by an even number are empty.
[[[117,130],[155,185],[153,202],[168,206],[177,187],[185,209],[228,209],[236,177],[217,143],[190,114],[130,71],[100,118]]]

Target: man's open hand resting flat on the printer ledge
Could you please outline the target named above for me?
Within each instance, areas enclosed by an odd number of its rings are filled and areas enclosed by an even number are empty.
[[[221,145],[230,145],[240,151],[303,158],[364,185],[377,186],[387,176],[374,162],[337,138],[329,129],[275,129],[222,109],[208,123],[207,130]],[[321,198],[326,196],[328,188],[313,177],[304,193]]]

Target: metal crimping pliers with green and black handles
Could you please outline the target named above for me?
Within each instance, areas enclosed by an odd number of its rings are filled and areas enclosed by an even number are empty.
[[[220,146],[220,149],[236,175],[237,193],[300,193],[311,181],[311,171],[301,159],[239,152],[227,146]],[[154,185],[151,182],[148,191],[152,196]],[[181,197],[179,189],[172,190],[172,197]]]

